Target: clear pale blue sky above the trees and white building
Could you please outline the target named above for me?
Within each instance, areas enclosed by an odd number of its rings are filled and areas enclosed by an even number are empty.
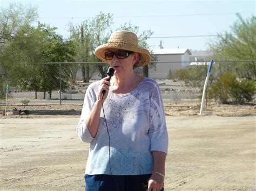
[[[112,30],[131,22],[139,26],[139,33],[152,30],[152,38],[147,42],[151,48],[189,48],[205,50],[214,37],[209,36],[230,31],[237,20],[236,12],[246,19],[255,16],[255,1],[12,1],[0,0],[0,6],[9,3],[31,4],[38,10],[41,23],[57,27],[57,33],[68,36],[68,23],[79,24],[83,20],[103,13],[113,14]]]

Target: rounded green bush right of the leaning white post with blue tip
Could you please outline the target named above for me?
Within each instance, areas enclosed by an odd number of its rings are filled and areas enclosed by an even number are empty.
[[[224,73],[210,84],[208,93],[210,97],[221,103],[245,103],[253,100],[255,82],[250,80],[237,80],[237,75]]]

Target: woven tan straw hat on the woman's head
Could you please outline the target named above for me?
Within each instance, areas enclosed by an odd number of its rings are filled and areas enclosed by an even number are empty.
[[[109,48],[125,49],[126,51],[139,53],[139,60],[136,63],[137,67],[147,65],[151,59],[150,52],[145,48],[139,47],[138,37],[130,31],[113,32],[106,44],[100,45],[95,49],[95,55],[100,60],[108,62],[108,60],[105,59],[104,54]]]

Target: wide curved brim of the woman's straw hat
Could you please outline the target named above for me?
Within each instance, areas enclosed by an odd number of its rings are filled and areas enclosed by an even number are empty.
[[[139,60],[138,60],[138,67],[142,67],[147,65],[150,60],[151,60],[151,55],[150,52],[147,51],[145,48],[139,48],[139,47],[134,47],[126,44],[122,44],[120,42],[110,42],[106,43],[104,45],[100,45],[95,49],[95,55],[102,61],[104,62],[109,62],[109,60],[105,59],[105,52],[107,49],[110,48],[118,48],[118,49],[125,49],[126,51],[132,51],[132,52],[137,52],[139,53]]]

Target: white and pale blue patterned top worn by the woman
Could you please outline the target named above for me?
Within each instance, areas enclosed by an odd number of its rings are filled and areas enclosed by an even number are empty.
[[[97,100],[100,82],[93,82],[86,90],[77,134],[90,143],[85,174],[111,174],[109,166],[109,136],[103,115],[100,114],[98,132],[91,137],[86,118]],[[104,104],[110,133],[111,171],[114,175],[150,174],[153,170],[151,151],[167,153],[168,135],[163,100],[156,81],[144,79],[130,93],[119,95],[109,91]]]

